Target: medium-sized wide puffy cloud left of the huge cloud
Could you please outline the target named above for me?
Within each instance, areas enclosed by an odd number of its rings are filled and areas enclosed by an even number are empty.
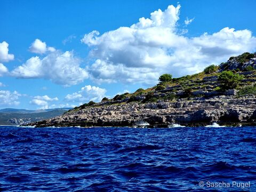
[[[31,57],[15,68],[11,75],[18,78],[45,78],[52,82],[70,86],[81,83],[88,77],[87,71],[79,67],[80,60],[73,52],[52,52],[43,59]]]

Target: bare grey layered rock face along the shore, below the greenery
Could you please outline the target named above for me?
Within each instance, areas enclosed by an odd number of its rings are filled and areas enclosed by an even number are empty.
[[[133,126],[138,122],[150,125],[255,122],[256,98],[216,96],[204,100],[182,100],[138,104],[135,102],[87,107],[65,115],[31,123],[36,126]]]

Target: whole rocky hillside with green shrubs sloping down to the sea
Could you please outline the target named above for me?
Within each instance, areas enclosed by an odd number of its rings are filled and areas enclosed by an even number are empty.
[[[159,77],[154,87],[90,101],[37,126],[168,126],[173,123],[254,123],[256,53],[231,57],[194,75]]]

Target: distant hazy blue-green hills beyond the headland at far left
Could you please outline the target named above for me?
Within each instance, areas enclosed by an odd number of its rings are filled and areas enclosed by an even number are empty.
[[[71,108],[45,110],[0,109],[0,125],[19,125],[62,115]]]

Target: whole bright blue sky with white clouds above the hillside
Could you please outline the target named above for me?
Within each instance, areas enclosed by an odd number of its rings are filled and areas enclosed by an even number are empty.
[[[255,1],[0,1],[0,108],[75,107],[256,51]]]

